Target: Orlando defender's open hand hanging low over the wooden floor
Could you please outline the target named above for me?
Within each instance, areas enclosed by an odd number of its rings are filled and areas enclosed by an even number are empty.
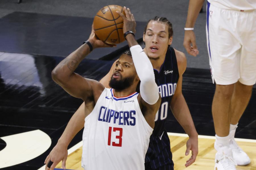
[[[187,140],[187,150],[185,152],[186,156],[189,155],[190,150],[192,151],[191,152],[192,155],[185,163],[185,167],[192,165],[192,163],[194,163],[197,158],[197,154],[198,154],[198,138],[197,137],[189,138]]]

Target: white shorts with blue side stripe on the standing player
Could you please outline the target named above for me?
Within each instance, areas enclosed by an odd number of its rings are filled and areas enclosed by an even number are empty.
[[[213,82],[255,84],[256,10],[226,10],[207,3],[206,36]]]

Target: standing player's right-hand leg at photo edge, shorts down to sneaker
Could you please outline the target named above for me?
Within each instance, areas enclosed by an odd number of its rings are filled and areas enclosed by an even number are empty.
[[[247,165],[250,158],[234,140],[236,127],[251,98],[252,87],[256,82],[256,10],[240,12],[240,40],[242,44],[240,59],[240,79],[235,85],[230,109],[230,147],[238,165]]]

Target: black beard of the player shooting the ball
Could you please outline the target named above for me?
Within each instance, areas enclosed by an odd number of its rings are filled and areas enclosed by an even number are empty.
[[[129,76],[126,78],[122,78],[120,80],[114,79],[111,77],[109,86],[116,91],[122,91],[130,87],[134,81],[135,76]]]

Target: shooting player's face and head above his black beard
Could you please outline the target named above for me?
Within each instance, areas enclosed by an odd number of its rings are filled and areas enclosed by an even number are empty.
[[[125,78],[130,78],[130,77],[136,78],[136,76],[137,76],[137,72],[135,70],[132,57],[127,54],[121,55],[119,60],[116,62],[115,70],[113,71],[113,75],[111,79],[115,79],[116,81],[121,81]]]

